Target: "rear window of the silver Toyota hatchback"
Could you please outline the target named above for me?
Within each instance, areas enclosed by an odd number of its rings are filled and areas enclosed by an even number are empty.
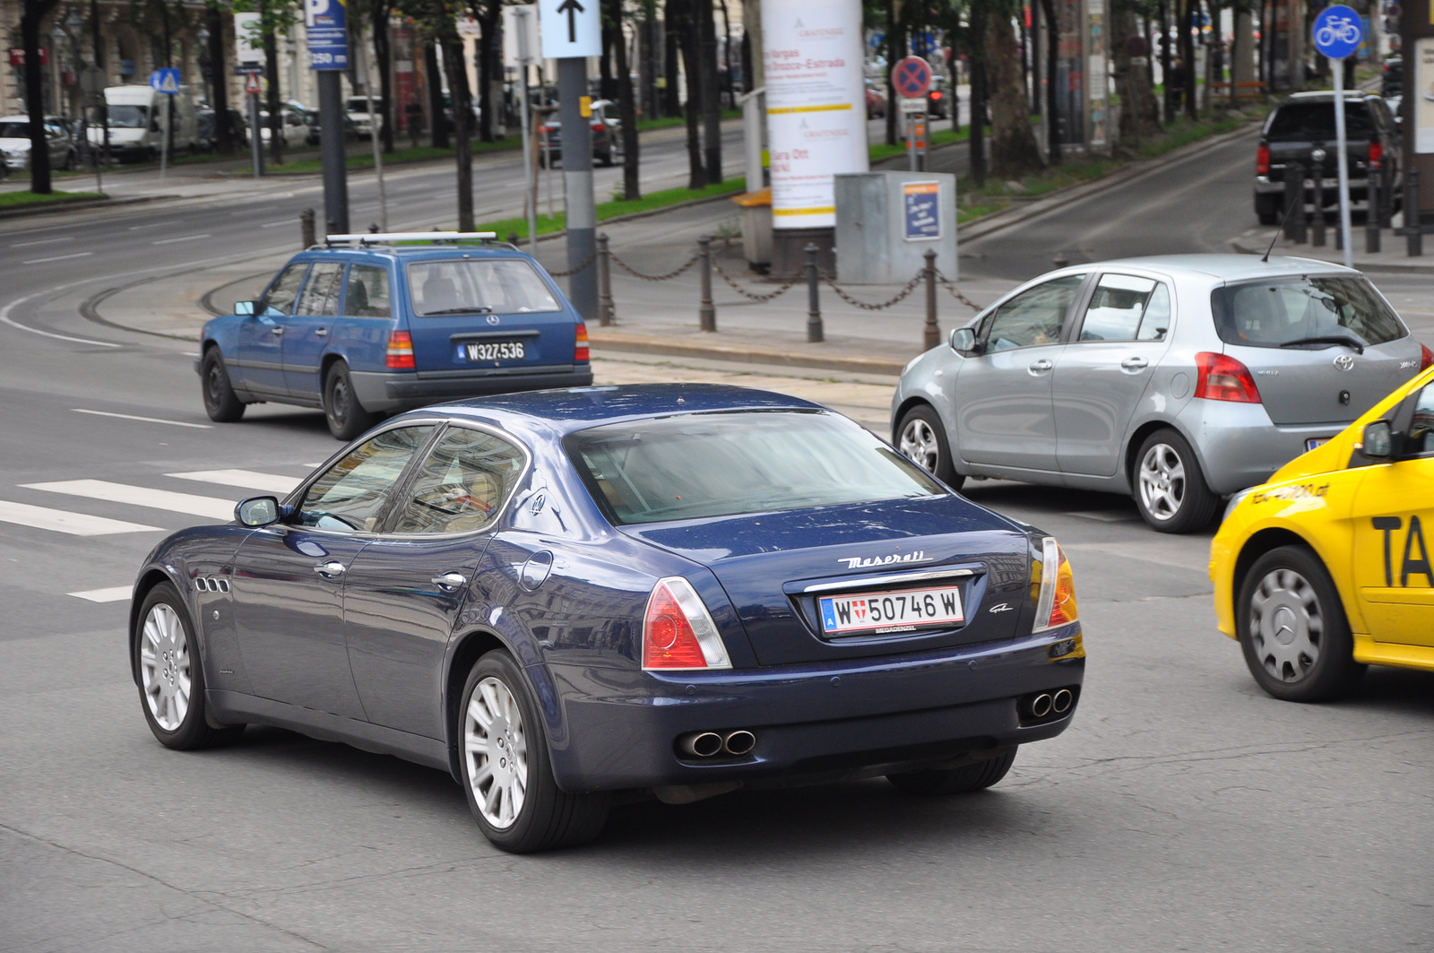
[[[1210,293],[1210,309],[1220,340],[1250,347],[1283,347],[1319,337],[1354,337],[1368,347],[1407,333],[1394,309],[1357,277],[1295,276],[1228,284]]]

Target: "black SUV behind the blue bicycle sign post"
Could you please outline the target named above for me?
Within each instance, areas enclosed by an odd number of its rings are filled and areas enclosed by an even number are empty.
[[[1279,221],[1285,205],[1286,165],[1302,162],[1312,169],[1316,148],[1325,152],[1324,202],[1339,202],[1334,106],[1332,92],[1295,93],[1269,113],[1255,158],[1255,214],[1262,225]],[[1345,93],[1345,148],[1349,156],[1349,201],[1367,199],[1369,165],[1378,162],[1380,189],[1390,197],[1390,207],[1397,207],[1404,181],[1400,172],[1400,128],[1380,96],[1362,90]],[[1315,201],[1312,187],[1305,197]]]

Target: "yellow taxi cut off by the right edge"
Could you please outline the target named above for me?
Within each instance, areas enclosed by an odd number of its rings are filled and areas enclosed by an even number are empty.
[[[1260,487],[1210,544],[1220,632],[1260,687],[1321,702],[1367,665],[1434,672],[1434,367]]]

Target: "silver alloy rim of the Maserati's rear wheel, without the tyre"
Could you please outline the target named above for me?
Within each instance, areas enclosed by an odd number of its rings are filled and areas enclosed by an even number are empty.
[[[518,699],[492,676],[467,702],[463,761],[483,820],[498,830],[512,827],[528,797],[528,735]]]

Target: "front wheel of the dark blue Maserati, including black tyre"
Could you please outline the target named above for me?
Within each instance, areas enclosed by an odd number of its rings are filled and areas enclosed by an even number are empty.
[[[204,665],[189,611],[169,583],[155,586],[139,607],[135,672],[139,706],[165,748],[192,751],[234,741],[244,725],[215,728],[205,718]]]

